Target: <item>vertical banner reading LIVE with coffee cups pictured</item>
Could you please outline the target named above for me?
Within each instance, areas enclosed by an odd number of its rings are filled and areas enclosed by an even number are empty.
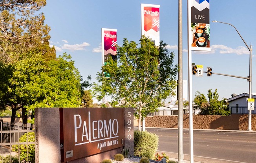
[[[210,0],[191,1],[191,50],[210,51]]]

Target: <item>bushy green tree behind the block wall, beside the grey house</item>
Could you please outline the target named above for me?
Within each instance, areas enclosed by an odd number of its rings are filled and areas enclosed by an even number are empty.
[[[196,92],[196,98],[194,98],[194,109],[201,109],[199,114],[205,115],[229,115],[229,107],[226,99],[219,100],[219,94],[217,89],[212,92],[212,89],[208,90],[208,101],[203,94]]]

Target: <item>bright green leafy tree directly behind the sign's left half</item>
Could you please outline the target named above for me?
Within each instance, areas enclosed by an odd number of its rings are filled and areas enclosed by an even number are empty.
[[[35,107],[79,107],[81,91],[89,86],[88,81],[80,83],[82,77],[71,56],[64,53],[57,60],[49,62],[49,70],[42,72],[35,81],[36,101],[30,109]],[[90,79],[90,78],[88,78]]]

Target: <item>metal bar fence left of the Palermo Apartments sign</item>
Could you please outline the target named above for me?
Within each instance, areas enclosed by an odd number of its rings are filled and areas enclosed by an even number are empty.
[[[34,126],[30,123],[23,124],[23,123],[15,123],[11,124],[10,122],[3,122],[0,121],[1,125],[1,159],[3,162],[3,159],[7,156],[9,157],[9,161],[12,163],[14,155],[17,156],[18,162],[20,163],[22,160],[20,160],[20,145],[25,145],[27,147],[27,160],[29,160],[29,145],[35,144],[35,141],[29,142],[28,138],[26,142],[19,142],[19,138],[24,135],[25,133],[28,134],[29,132],[35,132]],[[28,136],[27,136],[28,137]],[[13,145],[18,145],[18,152],[12,152]],[[26,163],[29,163],[27,161]]]

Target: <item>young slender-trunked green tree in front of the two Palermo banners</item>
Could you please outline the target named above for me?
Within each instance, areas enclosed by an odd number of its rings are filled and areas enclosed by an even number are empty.
[[[139,124],[149,112],[163,105],[165,99],[176,89],[177,65],[173,66],[174,53],[169,53],[166,44],[159,47],[146,37],[137,43],[123,40],[123,47],[117,46],[117,62],[110,60],[102,67],[109,77],[98,72],[93,90],[97,99],[110,96],[112,107],[133,107]],[[139,125],[139,130],[141,130]]]

